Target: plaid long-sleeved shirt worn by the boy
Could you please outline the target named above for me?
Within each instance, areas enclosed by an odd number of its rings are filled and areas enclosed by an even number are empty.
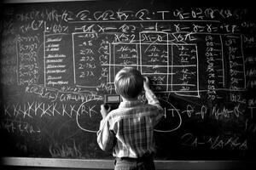
[[[146,90],[148,104],[121,102],[119,108],[102,119],[97,142],[102,150],[113,149],[113,156],[137,158],[154,153],[154,126],[160,122],[163,109],[151,90]]]

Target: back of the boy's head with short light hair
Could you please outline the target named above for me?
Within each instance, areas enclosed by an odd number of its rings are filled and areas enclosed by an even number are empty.
[[[115,91],[125,99],[135,99],[143,91],[143,81],[140,71],[125,67],[114,78]]]

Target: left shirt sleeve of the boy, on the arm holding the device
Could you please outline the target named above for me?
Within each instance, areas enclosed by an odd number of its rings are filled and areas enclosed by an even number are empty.
[[[108,116],[102,119],[100,129],[97,132],[97,143],[102,150],[111,150],[114,145],[115,135],[112,130],[110,130],[110,125],[108,122]]]

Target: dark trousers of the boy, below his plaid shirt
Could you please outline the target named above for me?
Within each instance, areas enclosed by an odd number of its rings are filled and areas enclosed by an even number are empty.
[[[114,161],[114,170],[155,170],[152,156],[141,158],[122,157]]]

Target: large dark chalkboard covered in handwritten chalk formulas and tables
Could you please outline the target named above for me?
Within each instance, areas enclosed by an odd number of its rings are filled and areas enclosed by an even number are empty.
[[[165,109],[156,160],[255,159],[249,5],[5,3],[1,11],[1,156],[112,159],[96,143],[100,105],[114,94],[115,73],[132,66]]]

